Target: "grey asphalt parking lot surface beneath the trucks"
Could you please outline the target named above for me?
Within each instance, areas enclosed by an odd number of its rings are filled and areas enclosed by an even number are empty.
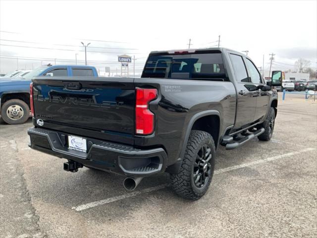
[[[317,102],[286,95],[273,138],[219,148],[207,194],[177,197],[168,176],[123,177],[28,148],[26,129],[0,125],[0,237],[317,237]]]

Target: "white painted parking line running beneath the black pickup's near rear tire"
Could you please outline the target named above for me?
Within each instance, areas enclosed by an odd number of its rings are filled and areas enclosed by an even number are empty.
[[[287,158],[289,156],[298,155],[298,154],[301,154],[301,153],[304,153],[304,152],[308,152],[308,151],[312,151],[312,150],[316,150],[316,149],[315,148],[306,148],[306,149],[303,149],[303,150],[300,150],[300,151],[290,152],[290,153],[286,153],[286,154],[282,154],[282,155],[269,157],[269,158],[266,158],[266,159],[257,160],[257,161],[254,161],[254,162],[244,163],[244,164],[241,164],[241,165],[236,165],[236,166],[231,166],[231,167],[227,167],[227,168],[224,168],[224,169],[215,170],[214,171],[214,175],[218,175],[218,174],[222,174],[222,173],[225,173],[225,172],[228,172],[228,171],[237,170],[237,169],[241,169],[241,168],[245,168],[245,167],[249,167],[249,166],[254,166],[254,165],[266,163],[266,162],[273,161],[273,160]],[[99,205],[104,205],[106,203],[115,202],[115,201],[122,200],[122,199],[125,199],[125,198],[128,198],[128,197],[134,197],[134,196],[137,196],[137,195],[142,194],[142,193],[156,191],[156,190],[162,189],[162,188],[167,187],[167,186],[169,186],[169,184],[165,183],[165,184],[161,184],[161,185],[158,185],[158,186],[145,188],[145,189],[140,190],[140,191],[134,191],[134,192],[130,192],[130,193],[127,193],[127,194],[106,198],[104,200],[100,200],[100,201],[96,201],[96,202],[86,203],[86,204],[83,204],[83,205],[80,205],[80,206],[77,206],[77,207],[72,207],[72,209],[74,209],[75,211],[79,212],[79,211],[86,210],[88,208],[96,207],[96,206],[99,206]]]

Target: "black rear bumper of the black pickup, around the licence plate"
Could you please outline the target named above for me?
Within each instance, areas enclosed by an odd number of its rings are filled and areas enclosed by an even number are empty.
[[[29,146],[84,166],[125,176],[150,176],[165,170],[167,155],[162,148],[141,150],[121,144],[86,138],[87,153],[68,149],[68,134],[37,127],[28,129]]]

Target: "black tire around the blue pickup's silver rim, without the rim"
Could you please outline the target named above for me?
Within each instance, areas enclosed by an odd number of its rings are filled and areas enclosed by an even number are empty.
[[[23,110],[23,116],[19,119],[11,119],[7,116],[7,110],[10,106],[18,106],[21,107],[21,109]],[[1,119],[3,119],[6,123],[8,124],[22,124],[25,121],[27,121],[27,119],[30,116],[30,108],[29,106],[23,102],[22,100],[19,99],[11,99],[6,101],[5,103],[3,103],[3,105],[1,106]]]

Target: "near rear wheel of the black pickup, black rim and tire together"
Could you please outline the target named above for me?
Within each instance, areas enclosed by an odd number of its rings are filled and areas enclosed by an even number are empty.
[[[215,164],[215,146],[211,134],[193,130],[178,174],[171,175],[174,191],[180,197],[197,200],[209,188]]]

